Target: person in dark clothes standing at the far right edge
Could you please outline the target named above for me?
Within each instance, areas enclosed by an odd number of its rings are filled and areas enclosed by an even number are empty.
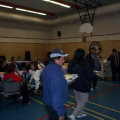
[[[108,57],[107,61],[110,61],[112,80],[116,81],[116,73],[118,73],[120,79],[120,53],[118,53],[116,49],[113,49],[112,53],[113,54]]]

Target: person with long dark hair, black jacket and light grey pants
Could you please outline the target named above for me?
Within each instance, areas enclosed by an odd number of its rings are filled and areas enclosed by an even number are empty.
[[[68,73],[78,74],[78,78],[70,86],[74,89],[77,107],[70,115],[71,120],[75,117],[85,117],[84,106],[88,101],[88,92],[91,90],[91,81],[94,73],[91,65],[84,60],[85,51],[81,48],[77,49],[72,61],[68,64]]]

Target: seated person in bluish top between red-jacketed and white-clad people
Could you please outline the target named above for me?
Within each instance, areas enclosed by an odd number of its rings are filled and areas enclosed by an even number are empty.
[[[28,82],[30,80],[31,74],[29,73],[29,68],[27,66],[23,67],[23,73],[21,74],[24,81]]]

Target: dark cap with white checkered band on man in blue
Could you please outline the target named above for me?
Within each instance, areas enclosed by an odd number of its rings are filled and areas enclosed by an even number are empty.
[[[67,57],[69,54],[64,54],[63,51],[61,49],[55,49],[51,52],[50,54],[50,58],[54,58],[54,57]]]

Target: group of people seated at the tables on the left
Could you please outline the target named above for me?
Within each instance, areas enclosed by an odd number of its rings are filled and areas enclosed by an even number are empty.
[[[41,60],[38,58],[37,61],[31,62],[28,65],[25,65],[22,67],[22,73],[20,73],[20,65],[17,63],[17,60],[15,57],[11,57],[11,63],[6,63],[5,56],[1,56],[0,59],[0,72],[4,73],[3,80],[0,77],[1,84],[5,82],[20,82],[21,83],[21,95],[24,96],[24,94],[28,93],[28,89],[34,89],[34,93],[37,93],[39,85],[40,85],[40,75],[45,67],[44,64],[41,63]],[[30,72],[30,70],[32,72]],[[26,88],[25,88],[26,86]],[[2,86],[1,86],[2,87]],[[23,89],[27,89],[26,91]],[[24,93],[24,92],[26,93]],[[28,96],[28,94],[27,94]],[[26,100],[26,96],[22,98],[22,101],[24,103],[29,103],[28,100]]]

